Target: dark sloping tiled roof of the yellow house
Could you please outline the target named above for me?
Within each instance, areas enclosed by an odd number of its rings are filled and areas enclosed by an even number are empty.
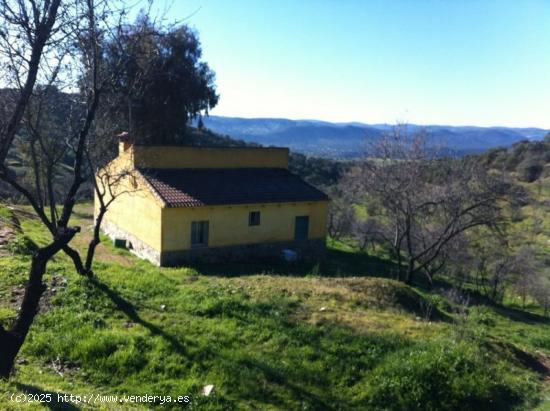
[[[139,169],[168,207],[327,200],[281,168]]]

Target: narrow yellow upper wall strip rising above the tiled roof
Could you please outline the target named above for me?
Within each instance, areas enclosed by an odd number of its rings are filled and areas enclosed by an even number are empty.
[[[134,146],[136,167],[149,168],[288,168],[288,148]]]

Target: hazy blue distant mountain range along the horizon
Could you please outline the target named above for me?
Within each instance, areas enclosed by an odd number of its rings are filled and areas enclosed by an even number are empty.
[[[354,158],[373,141],[391,129],[388,124],[329,123],[318,120],[277,118],[238,118],[210,116],[204,125],[216,133],[246,142],[285,146],[308,155]],[[479,153],[493,147],[509,147],[521,140],[541,140],[548,130],[539,128],[419,126],[425,128],[432,145],[443,145],[458,154]]]

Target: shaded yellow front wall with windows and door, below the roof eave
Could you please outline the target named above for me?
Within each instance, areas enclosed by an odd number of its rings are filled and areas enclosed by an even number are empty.
[[[209,221],[209,247],[294,240],[295,217],[309,216],[309,238],[326,236],[327,201],[234,205],[162,210],[163,251],[191,247],[191,222]],[[248,213],[260,211],[260,225],[248,225]]]

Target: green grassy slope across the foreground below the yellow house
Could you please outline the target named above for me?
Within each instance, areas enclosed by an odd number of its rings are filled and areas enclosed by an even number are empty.
[[[79,248],[90,212],[78,208]],[[27,236],[47,240],[36,220],[20,219]],[[4,324],[29,259],[24,249],[0,259]],[[443,294],[397,283],[391,263],[340,243],[311,265],[157,268],[108,242],[96,261],[94,280],[62,254],[48,266],[0,409],[152,407],[57,402],[73,394],[190,398],[161,409],[550,410],[550,320],[535,307],[472,305],[462,318]],[[10,400],[24,393],[54,401]]]

